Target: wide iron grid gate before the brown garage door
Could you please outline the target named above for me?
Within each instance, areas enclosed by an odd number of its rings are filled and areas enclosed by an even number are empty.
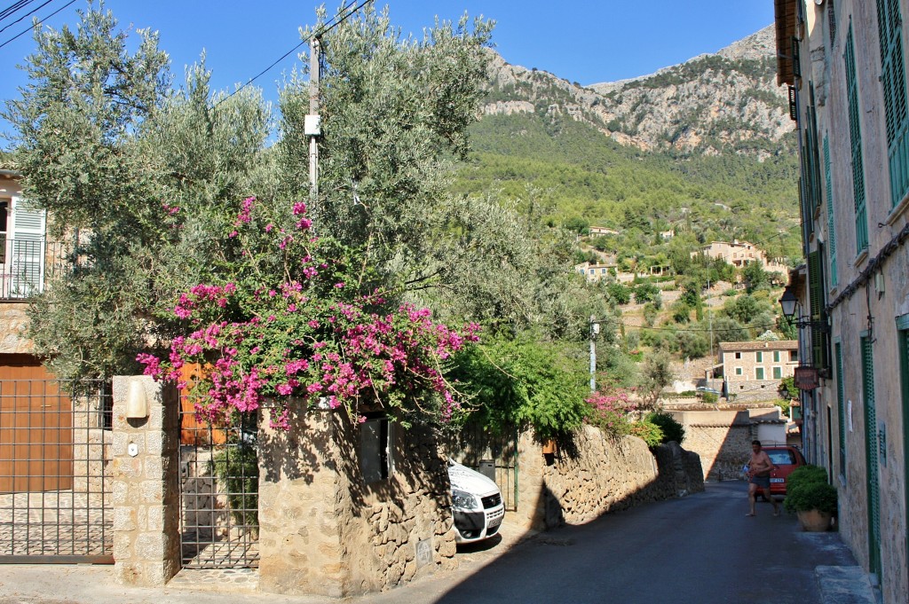
[[[0,381],[0,563],[113,563],[107,381]]]

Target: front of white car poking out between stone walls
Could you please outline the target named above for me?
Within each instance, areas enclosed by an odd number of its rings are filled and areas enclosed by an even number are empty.
[[[449,458],[448,480],[452,483],[454,540],[473,543],[499,531],[505,515],[502,492],[493,480]]]

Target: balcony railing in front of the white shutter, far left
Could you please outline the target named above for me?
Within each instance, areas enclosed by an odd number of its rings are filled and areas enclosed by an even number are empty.
[[[40,236],[0,234],[0,300],[27,300],[44,292],[48,280],[68,265],[66,247]]]

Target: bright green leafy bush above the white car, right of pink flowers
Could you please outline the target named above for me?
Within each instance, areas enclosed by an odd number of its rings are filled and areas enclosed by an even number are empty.
[[[530,427],[539,441],[581,426],[587,375],[578,349],[534,334],[484,341],[454,361],[451,377],[472,401],[470,421],[494,433]]]

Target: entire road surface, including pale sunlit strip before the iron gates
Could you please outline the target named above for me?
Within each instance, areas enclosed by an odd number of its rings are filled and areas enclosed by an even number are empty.
[[[769,503],[748,510],[744,482],[607,514],[577,527],[459,550],[460,568],[379,594],[332,600],[222,584],[115,585],[110,567],[0,565],[0,604],[877,604],[836,532],[803,532]]]

